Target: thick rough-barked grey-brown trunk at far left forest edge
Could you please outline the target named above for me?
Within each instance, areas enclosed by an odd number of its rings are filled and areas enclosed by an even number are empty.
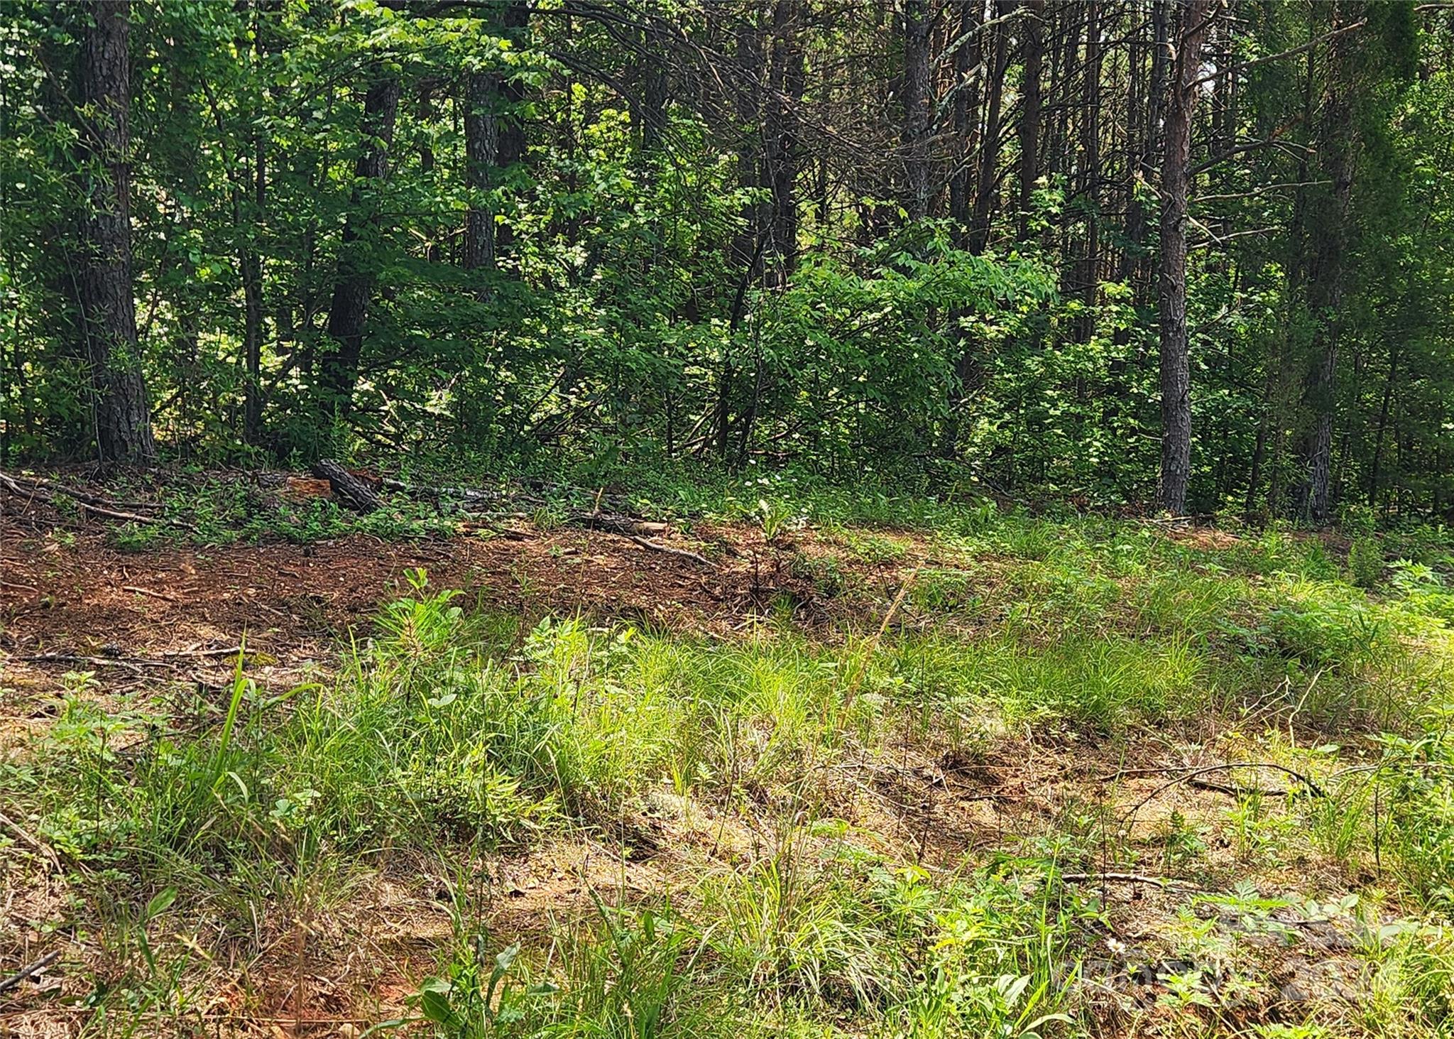
[[[81,147],[95,164],[81,218],[80,311],[102,463],[150,463],[147,383],[131,287],[129,0],[92,0],[81,39]]]

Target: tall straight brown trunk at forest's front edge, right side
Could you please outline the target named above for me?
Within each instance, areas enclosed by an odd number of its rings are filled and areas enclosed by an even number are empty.
[[[1210,0],[1182,7],[1172,93],[1166,105],[1166,156],[1162,163],[1162,471],[1156,503],[1166,512],[1186,508],[1191,479],[1191,365],[1186,345],[1186,191],[1191,179],[1192,86],[1201,70],[1201,41]]]

